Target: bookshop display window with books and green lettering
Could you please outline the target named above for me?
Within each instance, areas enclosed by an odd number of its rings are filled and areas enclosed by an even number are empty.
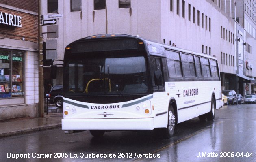
[[[24,97],[24,52],[0,49],[0,98]]]

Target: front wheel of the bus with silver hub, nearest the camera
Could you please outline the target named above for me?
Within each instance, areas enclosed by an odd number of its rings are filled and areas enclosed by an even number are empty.
[[[175,122],[175,113],[174,108],[170,105],[168,110],[168,125],[167,128],[164,129],[164,136],[166,139],[171,138],[174,134],[176,122]]]

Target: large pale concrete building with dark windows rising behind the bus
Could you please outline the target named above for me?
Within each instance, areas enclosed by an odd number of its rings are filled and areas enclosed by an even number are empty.
[[[230,6],[234,3],[229,2]],[[49,9],[50,4],[54,4],[55,9]],[[222,89],[239,92],[237,23],[223,10],[223,6],[228,7],[224,0],[42,0],[41,5],[43,15],[61,16],[56,19],[56,25],[43,26],[46,48],[56,49],[48,50],[50,59],[62,60],[65,46],[86,36],[139,35],[215,56],[219,61]],[[243,35],[246,36],[246,32]],[[246,60],[242,47],[243,60]],[[245,75],[243,72],[240,77]],[[254,77],[256,72],[247,76]],[[61,68],[57,78],[62,78]],[[53,80],[53,84],[59,83],[61,79]]]

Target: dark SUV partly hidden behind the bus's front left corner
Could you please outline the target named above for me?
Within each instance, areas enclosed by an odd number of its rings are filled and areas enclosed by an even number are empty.
[[[54,85],[50,91],[49,94],[46,94],[46,97],[48,98],[49,103],[54,103],[56,107],[62,108],[63,102],[62,102],[62,96],[63,96],[63,85]]]

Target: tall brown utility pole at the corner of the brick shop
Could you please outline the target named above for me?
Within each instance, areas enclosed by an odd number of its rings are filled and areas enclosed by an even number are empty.
[[[44,117],[43,96],[43,35],[42,33],[41,0],[38,0],[38,117]]]

